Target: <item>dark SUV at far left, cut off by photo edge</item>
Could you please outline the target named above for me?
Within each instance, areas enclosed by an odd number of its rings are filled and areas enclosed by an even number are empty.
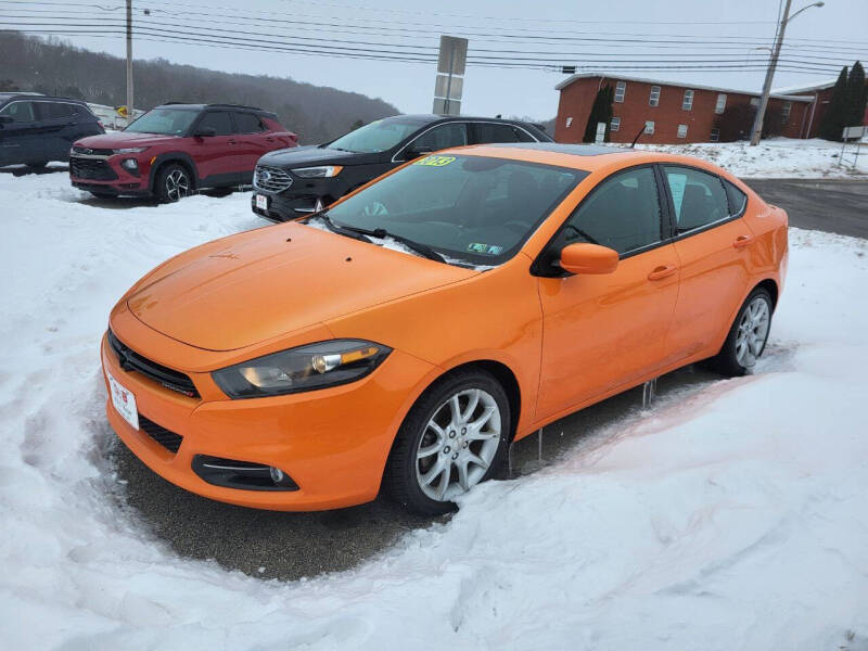
[[[74,141],[104,132],[80,100],[0,92],[0,166],[68,161]]]

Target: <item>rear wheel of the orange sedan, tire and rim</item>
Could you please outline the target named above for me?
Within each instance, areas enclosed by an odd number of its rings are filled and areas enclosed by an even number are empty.
[[[720,352],[709,367],[722,375],[738,378],[750,371],[765,350],[774,311],[771,295],[756,288],[744,299]]]

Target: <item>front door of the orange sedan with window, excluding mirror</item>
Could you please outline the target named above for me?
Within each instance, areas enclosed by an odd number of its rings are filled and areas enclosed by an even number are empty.
[[[574,242],[609,246],[621,257],[609,275],[539,278],[539,418],[578,407],[661,366],[679,270],[660,187],[651,165],[610,176],[537,261],[536,272],[545,276],[560,250]]]

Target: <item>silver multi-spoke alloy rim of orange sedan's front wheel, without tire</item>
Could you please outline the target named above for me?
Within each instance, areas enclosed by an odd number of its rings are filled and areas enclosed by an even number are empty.
[[[485,476],[501,436],[500,408],[481,388],[455,393],[434,410],[416,451],[416,477],[431,499],[449,501]]]

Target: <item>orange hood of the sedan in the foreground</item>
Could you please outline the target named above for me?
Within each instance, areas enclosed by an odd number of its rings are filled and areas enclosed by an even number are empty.
[[[167,336],[234,350],[477,273],[291,222],[183,253],[126,301]]]

